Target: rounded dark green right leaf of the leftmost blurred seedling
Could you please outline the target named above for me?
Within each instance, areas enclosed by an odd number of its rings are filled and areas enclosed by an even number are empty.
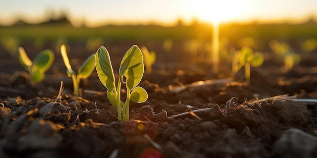
[[[37,66],[39,72],[46,72],[49,70],[54,62],[54,53],[50,49],[45,49],[34,58],[33,65]]]

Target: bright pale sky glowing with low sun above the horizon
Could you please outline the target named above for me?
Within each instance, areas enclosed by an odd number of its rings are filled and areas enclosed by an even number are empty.
[[[48,10],[67,11],[71,22],[89,26],[101,22],[174,23],[182,18],[204,22],[307,20],[317,17],[317,0],[0,0],[0,24],[19,16],[28,22],[44,20]],[[305,18],[305,19],[304,19]]]

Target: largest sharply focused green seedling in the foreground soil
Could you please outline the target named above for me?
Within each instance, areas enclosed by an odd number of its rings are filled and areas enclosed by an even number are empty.
[[[123,57],[119,69],[119,79],[115,87],[115,78],[109,52],[105,47],[97,50],[95,64],[101,83],[108,89],[107,97],[113,106],[117,107],[119,121],[129,120],[130,101],[141,103],[147,100],[147,92],[137,86],[144,73],[143,57],[140,48],[133,45]],[[121,101],[121,84],[127,88],[127,100]]]

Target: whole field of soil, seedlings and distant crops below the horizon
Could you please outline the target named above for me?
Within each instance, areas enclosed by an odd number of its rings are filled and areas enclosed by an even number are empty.
[[[316,157],[316,28],[0,27],[0,157]]]

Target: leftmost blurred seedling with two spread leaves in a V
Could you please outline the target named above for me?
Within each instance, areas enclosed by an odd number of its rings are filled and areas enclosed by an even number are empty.
[[[30,81],[41,82],[45,78],[54,61],[54,53],[50,49],[45,49],[34,58],[33,62],[27,57],[23,47],[19,47],[19,61],[26,71],[29,72]]]

